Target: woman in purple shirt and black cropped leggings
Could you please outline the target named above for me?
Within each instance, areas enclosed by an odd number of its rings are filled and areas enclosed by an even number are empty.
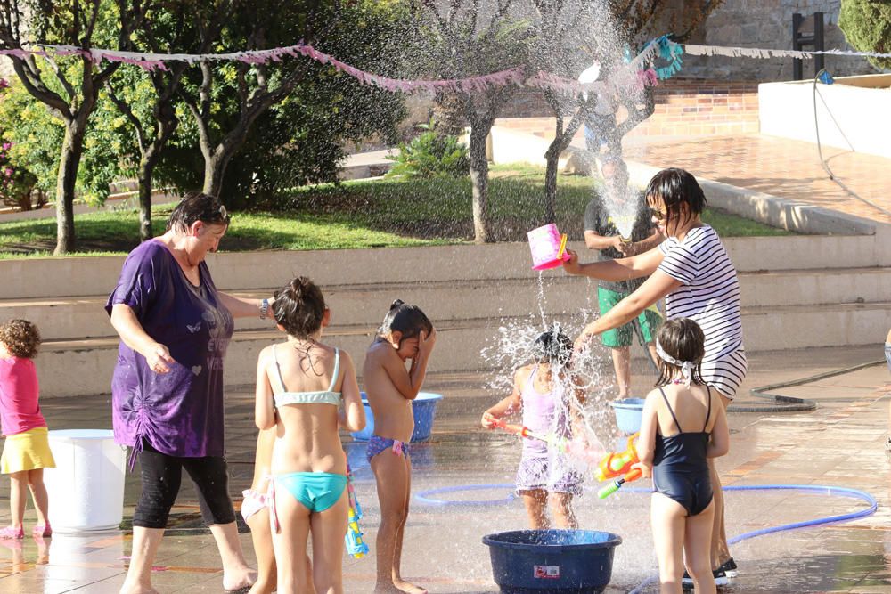
[[[135,248],[105,309],[121,341],[111,379],[115,440],[133,448],[143,490],[121,592],[153,592],[151,566],[185,469],[223,559],[223,587],[255,579],[241,552],[226,470],[223,359],[233,318],[266,317],[266,299],[217,290],[204,259],[229,227],[219,200],[190,194],[167,232]]]

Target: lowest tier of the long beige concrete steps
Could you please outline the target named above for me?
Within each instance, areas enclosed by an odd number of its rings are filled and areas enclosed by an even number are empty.
[[[881,341],[891,327],[891,303],[887,302],[746,307],[742,314],[745,345],[750,352],[870,345]],[[555,318],[564,323],[571,335],[575,335],[584,323],[583,316],[578,313],[548,316],[546,320],[550,322]],[[437,321],[439,338],[430,370],[493,370],[496,373],[500,365],[517,365],[521,362],[510,361],[511,356],[498,362],[486,353],[497,351],[503,337],[512,340],[514,335],[534,334],[543,326],[537,313]],[[361,375],[364,352],[373,335],[374,326],[339,325],[326,332],[325,342],[340,346],[351,354]],[[281,339],[281,333],[270,330],[236,331],[225,358],[226,384],[252,383],[260,349]],[[41,393],[46,396],[107,393],[117,348],[116,338],[45,342],[37,359]],[[608,357],[602,353],[602,358]]]

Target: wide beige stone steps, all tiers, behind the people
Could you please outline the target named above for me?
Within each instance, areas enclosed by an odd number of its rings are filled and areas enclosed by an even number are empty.
[[[740,271],[749,351],[876,344],[891,327],[891,255],[878,234],[730,238],[725,245]],[[592,259],[579,242],[572,247]],[[37,365],[44,395],[108,392],[118,339],[102,305],[123,259],[0,261],[0,321],[35,321],[45,338]],[[297,273],[313,278],[333,312],[327,341],[346,349],[359,370],[396,297],[421,305],[437,324],[430,369],[439,372],[492,369],[480,353],[496,345],[503,327],[560,320],[576,332],[584,311],[596,310],[593,281],[559,270],[539,276],[519,243],[221,254],[208,264],[218,287],[240,295],[269,295]],[[268,321],[237,327],[225,381],[250,384],[257,353],[282,335]]]

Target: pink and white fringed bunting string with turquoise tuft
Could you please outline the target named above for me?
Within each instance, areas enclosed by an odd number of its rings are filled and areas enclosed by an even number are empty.
[[[233,53],[142,53],[123,52],[118,50],[89,49],[85,50],[74,45],[36,45],[33,48],[14,48],[0,50],[0,55],[9,55],[26,58],[29,55],[52,57],[52,55],[81,55],[93,62],[119,61],[133,64],[142,69],[153,71],[155,69],[167,70],[166,62],[188,62],[194,64],[201,61],[241,61],[249,64],[266,64],[270,61],[282,61],[286,56],[306,56],[311,60],[322,64],[331,64],[339,72],[356,78],[363,85],[374,85],[388,91],[400,91],[413,93],[416,91],[462,91],[465,93],[485,91],[486,89],[504,86],[520,85],[540,89],[550,89],[563,94],[582,95],[589,91],[594,94],[619,92],[626,90],[629,85],[654,86],[659,80],[673,77],[683,66],[682,55],[698,56],[728,56],[748,58],[797,58],[808,60],[815,55],[836,56],[861,56],[875,58],[891,58],[891,53],[875,52],[848,52],[843,50],[826,50],[822,52],[805,52],[796,50],[770,50],[749,47],[723,47],[718,45],[681,45],[671,41],[667,36],[657,37],[645,45],[634,59],[628,61],[624,68],[617,69],[610,74],[608,81],[595,81],[593,83],[579,83],[570,78],[539,71],[531,77],[527,77],[521,66],[505,69],[491,74],[475,77],[464,77],[444,80],[408,80],[403,78],[384,77],[363,69],[358,69],[337,58],[316,50],[312,45],[298,44],[285,47],[276,47],[268,50],[249,50]],[[656,66],[657,59],[665,62],[664,66]]]

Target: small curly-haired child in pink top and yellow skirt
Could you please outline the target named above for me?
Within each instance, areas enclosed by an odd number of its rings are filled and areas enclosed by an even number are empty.
[[[53,452],[37,399],[37,369],[34,357],[40,346],[37,326],[26,320],[10,320],[0,326],[0,425],[6,437],[0,472],[10,476],[9,507],[11,524],[0,530],[0,540],[25,536],[25,500],[37,511],[37,537],[53,535],[47,509],[49,498],[44,485],[44,468],[55,468]]]

